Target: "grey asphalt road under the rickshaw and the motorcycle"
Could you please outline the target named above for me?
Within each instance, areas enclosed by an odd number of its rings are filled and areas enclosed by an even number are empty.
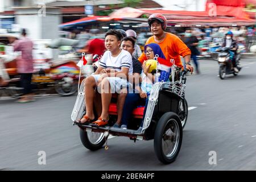
[[[220,80],[216,61],[200,60],[201,75],[188,76],[188,121],[172,164],[159,162],[153,140],[114,137],[108,151],[87,150],[70,118],[76,96],[51,96],[28,104],[0,100],[0,169],[256,170],[256,58],[241,64],[238,76]],[[39,151],[46,165],[38,164]],[[210,151],[217,164],[209,164]]]

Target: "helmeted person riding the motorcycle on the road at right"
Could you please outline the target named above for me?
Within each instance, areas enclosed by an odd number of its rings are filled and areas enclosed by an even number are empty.
[[[232,31],[228,31],[225,34],[224,42],[222,44],[222,47],[229,47],[231,48],[230,54],[232,55],[232,65],[234,72],[239,72],[237,69],[237,62],[236,62],[236,57],[237,57],[237,43],[233,39],[233,33]]]

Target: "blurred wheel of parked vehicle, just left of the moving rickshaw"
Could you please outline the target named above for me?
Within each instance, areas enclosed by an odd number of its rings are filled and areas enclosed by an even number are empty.
[[[61,96],[71,96],[77,92],[78,82],[71,77],[63,77],[55,81],[55,91]]]

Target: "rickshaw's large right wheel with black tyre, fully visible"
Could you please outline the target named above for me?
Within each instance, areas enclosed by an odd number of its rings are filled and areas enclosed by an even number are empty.
[[[160,162],[170,164],[179,154],[183,129],[177,114],[168,112],[162,115],[156,126],[154,149]]]

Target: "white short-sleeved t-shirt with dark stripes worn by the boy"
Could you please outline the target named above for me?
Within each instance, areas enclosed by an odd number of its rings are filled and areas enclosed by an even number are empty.
[[[129,74],[133,74],[133,59],[128,51],[122,50],[118,56],[113,57],[110,51],[106,51],[100,61],[100,67],[112,68],[121,72],[121,68],[128,68]]]

